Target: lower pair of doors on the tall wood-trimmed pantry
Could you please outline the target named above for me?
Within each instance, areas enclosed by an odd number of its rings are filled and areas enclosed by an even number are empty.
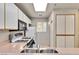
[[[74,36],[57,36],[57,48],[74,48]]]

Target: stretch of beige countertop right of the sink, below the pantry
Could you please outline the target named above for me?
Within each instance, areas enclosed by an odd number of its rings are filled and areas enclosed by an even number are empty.
[[[56,48],[59,55],[79,55],[79,48]]]

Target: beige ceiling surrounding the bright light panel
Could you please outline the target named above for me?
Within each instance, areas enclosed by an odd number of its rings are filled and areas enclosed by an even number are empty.
[[[48,3],[45,12],[36,12],[33,3],[16,3],[30,18],[48,18],[53,9],[79,9],[78,3]]]

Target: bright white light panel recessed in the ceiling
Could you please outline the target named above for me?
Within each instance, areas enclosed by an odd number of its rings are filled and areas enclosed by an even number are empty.
[[[46,0],[34,1],[35,11],[46,11],[47,2]]]

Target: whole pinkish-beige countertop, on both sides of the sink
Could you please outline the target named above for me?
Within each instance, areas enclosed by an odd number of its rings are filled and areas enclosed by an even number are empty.
[[[0,42],[0,54],[27,54],[20,53],[27,43],[10,43],[7,41]],[[42,49],[42,48],[40,48]],[[46,48],[47,49],[47,48]],[[57,54],[54,55],[79,55],[79,48],[52,48],[58,51]],[[49,55],[49,54],[48,54]]]

